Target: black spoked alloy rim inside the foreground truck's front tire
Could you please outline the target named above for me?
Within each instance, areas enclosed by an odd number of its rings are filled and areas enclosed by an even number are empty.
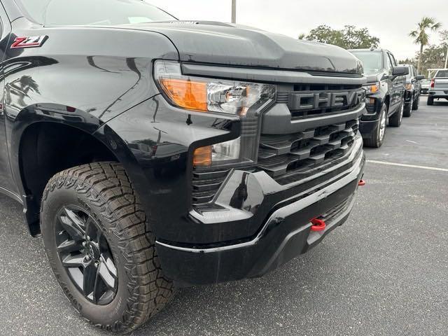
[[[111,303],[117,267],[99,225],[87,211],[69,205],[57,213],[55,231],[59,259],[80,293],[94,304]]]

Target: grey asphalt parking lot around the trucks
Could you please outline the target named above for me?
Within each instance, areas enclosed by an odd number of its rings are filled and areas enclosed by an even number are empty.
[[[367,186],[321,245],[262,279],[180,290],[134,335],[447,335],[448,102],[423,97],[366,153]],[[0,196],[0,335],[108,335],[65,299],[21,210]]]

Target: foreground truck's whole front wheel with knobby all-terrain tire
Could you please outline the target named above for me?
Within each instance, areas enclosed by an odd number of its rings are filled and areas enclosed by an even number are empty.
[[[125,169],[99,162],[67,169],[43,193],[45,252],[73,306],[94,325],[131,332],[169,300],[155,238]]]

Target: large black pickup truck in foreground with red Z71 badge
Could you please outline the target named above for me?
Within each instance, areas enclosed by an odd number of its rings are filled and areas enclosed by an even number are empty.
[[[130,332],[174,288],[261,276],[346,221],[365,162],[346,50],[137,0],[1,3],[0,191],[94,325]]]

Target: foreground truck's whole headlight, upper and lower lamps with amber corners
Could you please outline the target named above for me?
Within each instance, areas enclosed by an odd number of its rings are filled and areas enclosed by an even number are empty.
[[[241,120],[239,138],[195,149],[195,167],[250,164],[257,160],[255,112],[275,99],[275,85],[183,76],[181,64],[172,61],[155,62],[154,77],[164,97],[174,106],[231,114]]]

